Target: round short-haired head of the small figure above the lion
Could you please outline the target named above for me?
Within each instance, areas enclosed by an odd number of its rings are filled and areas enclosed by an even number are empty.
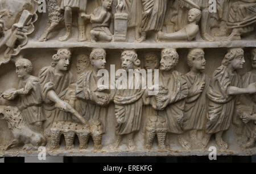
[[[18,61],[15,62],[16,66],[16,74],[18,78],[23,79],[28,74],[31,74],[33,70],[33,66],[30,60],[26,58],[20,58]]]

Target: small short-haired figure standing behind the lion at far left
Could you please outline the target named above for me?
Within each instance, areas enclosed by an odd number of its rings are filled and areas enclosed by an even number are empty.
[[[30,60],[20,58],[15,62],[15,66],[16,74],[20,79],[18,90],[3,92],[3,98],[13,100],[19,97],[18,108],[28,126],[32,130],[42,131],[44,117],[39,78],[31,75],[33,67]]]

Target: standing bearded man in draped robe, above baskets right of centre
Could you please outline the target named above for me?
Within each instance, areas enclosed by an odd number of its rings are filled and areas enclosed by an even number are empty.
[[[185,97],[188,96],[188,85],[181,73],[174,70],[179,62],[179,54],[175,49],[163,49],[161,53],[159,73],[159,93],[152,96],[151,105],[158,116],[167,122],[167,132],[178,134],[181,146],[188,149],[189,143],[180,134],[183,133],[183,117]],[[164,137],[165,139],[165,137]]]

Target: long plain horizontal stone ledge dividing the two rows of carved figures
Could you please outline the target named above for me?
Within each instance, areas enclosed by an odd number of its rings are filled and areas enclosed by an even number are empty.
[[[22,49],[31,48],[105,48],[105,49],[163,49],[163,48],[246,48],[256,47],[256,41],[182,41],[171,43],[89,43],[89,42],[75,42],[75,41],[29,41]]]

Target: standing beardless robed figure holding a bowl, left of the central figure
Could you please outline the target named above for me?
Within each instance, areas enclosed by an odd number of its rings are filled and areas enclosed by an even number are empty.
[[[98,86],[98,71],[105,69],[106,52],[104,49],[94,49],[90,53],[90,63],[92,70],[86,70],[77,80],[76,97],[84,101],[84,106],[79,111],[85,120],[89,122],[90,135],[93,138],[94,149],[102,148],[102,134],[105,133],[106,117],[110,102],[110,91],[108,86]],[[88,142],[89,137],[86,139]],[[86,142],[86,143],[87,143]]]

